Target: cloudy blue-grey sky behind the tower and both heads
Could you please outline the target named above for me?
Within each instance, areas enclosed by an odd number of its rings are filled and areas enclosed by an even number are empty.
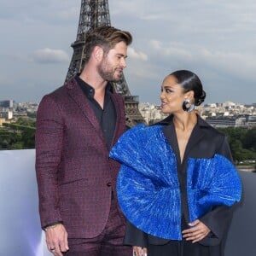
[[[67,75],[80,0],[0,0],[0,100],[40,102]],[[131,32],[125,79],[159,104],[178,69],[196,73],[206,103],[256,102],[255,0],[109,0],[111,25]]]

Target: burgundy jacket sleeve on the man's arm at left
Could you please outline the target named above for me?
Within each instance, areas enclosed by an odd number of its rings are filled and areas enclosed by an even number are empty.
[[[51,96],[44,96],[39,104],[36,128],[39,212],[41,225],[45,227],[62,221],[58,205],[57,172],[61,162],[64,125],[60,110]]]

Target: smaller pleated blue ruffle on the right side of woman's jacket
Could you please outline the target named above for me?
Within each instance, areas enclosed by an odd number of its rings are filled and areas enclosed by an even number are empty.
[[[211,159],[189,159],[189,219],[194,221],[212,206],[232,206],[241,199],[241,179],[236,167],[220,154]]]

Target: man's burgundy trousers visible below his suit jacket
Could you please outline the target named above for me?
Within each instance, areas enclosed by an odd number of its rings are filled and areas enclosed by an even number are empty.
[[[108,223],[100,236],[88,239],[68,239],[65,256],[131,256],[132,247],[124,246],[125,224],[112,200]]]

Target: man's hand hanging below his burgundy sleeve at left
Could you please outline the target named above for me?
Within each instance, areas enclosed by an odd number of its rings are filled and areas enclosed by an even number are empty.
[[[55,224],[49,226],[45,230],[46,244],[49,252],[53,253],[55,256],[62,256],[62,253],[67,252],[67,230],[63,224]]]

